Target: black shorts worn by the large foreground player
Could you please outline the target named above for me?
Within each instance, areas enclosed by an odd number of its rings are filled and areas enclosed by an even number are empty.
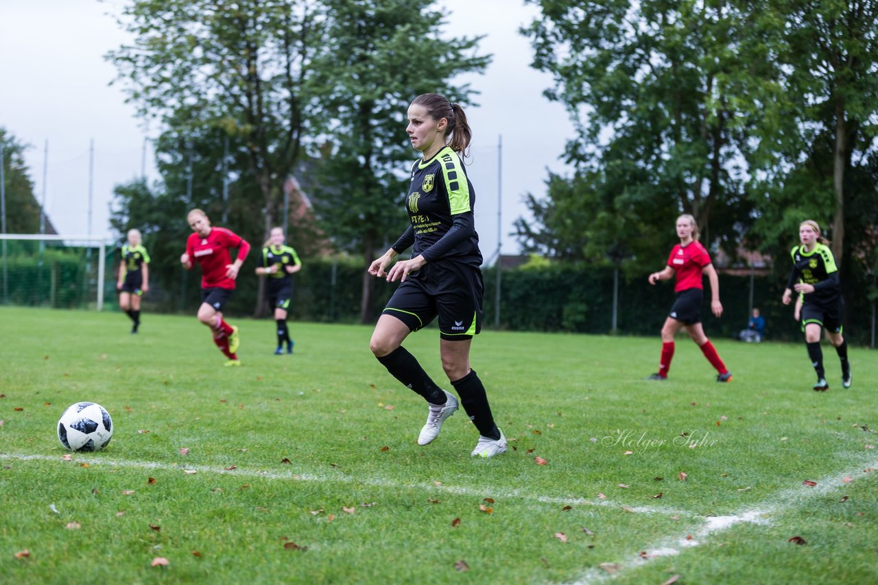
[[[439,261],[407,276],[387,302],[385,315],[415,332],[439,317],[442,339],[472,339],[482,329],[482,271],[468,264]]]

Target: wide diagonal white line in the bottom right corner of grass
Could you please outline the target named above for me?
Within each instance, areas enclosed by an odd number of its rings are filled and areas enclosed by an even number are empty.
[[[591,568],[579,577],[579,580],[574,581],[572,585],[611,581],[626,570],[643,567],[653,559],[673,556],[679,554],[685,548],[701,546],[709,537],[726,531],[736,524],[771,524],[771,517],[787,510],[800,508],[802,504],[817,496],[823,496],[833,491],[841,491],[850,482],[863,478],[867,473],[878,473],[878,460],[863,458],[860,465],[856,467],[856,469],[845,473],[822,477],[816,480],[817,485],[812,488],[800,484],[794,488],[782,489],[763,502],[751,508],[739,510],[738,513],[730,516],[704,517],[703,524],[692,526],[690,530],[682,532],[686,536],[661,540],[642,549],[642,552],[632,555],[627,560],[602,563],[607,565],[609,570],[599,567]],[[873,468],[874,470],[867,472],[866,469],[868,468]],[[850,482],[844,482],[843,480],[846,478],[850,478]],[[804,479],[806,478],[802,478],[802,480]]]

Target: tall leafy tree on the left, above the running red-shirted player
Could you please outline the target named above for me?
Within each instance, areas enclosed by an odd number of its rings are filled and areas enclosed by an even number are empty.
[[[132,0],[132,46],[108,54],[143,116],[221,128],[246,146],[267,234],[317,97],[320,4],[301,0]]]

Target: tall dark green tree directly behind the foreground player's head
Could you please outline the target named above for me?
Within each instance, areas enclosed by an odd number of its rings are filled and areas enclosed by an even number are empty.
[[[313,61],[327,144],[317,206],[337,246],[374,260],[406,226],[402,205],[415,153],[405,133],[408,103],[436,92],[468,103],[467,85],[489,57],[479,39],[444,38],[434,0],[326,0],[327,44]],[[378,248],[381,248],[378,250]],[[363,273],[361,318],[371,322],[375,281]]]

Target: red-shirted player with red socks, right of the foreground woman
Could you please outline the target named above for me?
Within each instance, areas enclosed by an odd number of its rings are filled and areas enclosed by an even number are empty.
[[[670,280],[674,275],[677,283],[673,290],[677,293],[677,299],[671,307],[671,312],[665,319],[665,325],[661,328],[661,361],[659,371],[651,375],[647,380],[666,380],[667,372],[671,369],[673,359],[673,336],[685,329],[689,337],[702,348],[704,357],[713,367],[716,367],[718,375],[716,382],[730,382],[731,373],[720,360],[716,348],[704,335],[702,328],[702,300],[704,290],[702,287],[702,275],[708,275],[710,281],[710,310],[716,317],[723,314],[723,304],[719,302],[719,279],[716,270],[710,263],[708,251],[698,241],[698,226],[695,218],[685,213],[677,218],[677,236],[680,244],[673,246],[671,255],[667,259],[667,266],[660,272],[650,275],[650,284],[659,281]]]

